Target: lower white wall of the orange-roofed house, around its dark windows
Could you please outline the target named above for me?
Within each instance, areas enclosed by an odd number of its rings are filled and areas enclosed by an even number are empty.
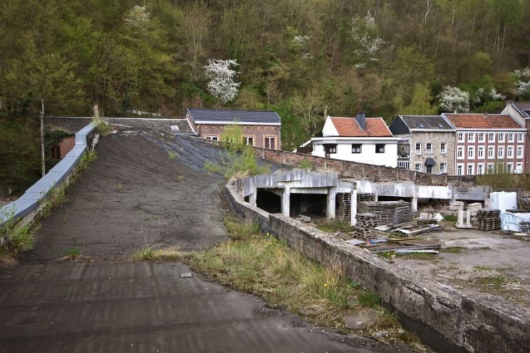
[[[311,154],[325,157],[324,144],[327,143],[337,144],[337,153],[330,155],[330,158],[397,167],[397,138],[392,138],[392,140],[384,140],[384,138],[379,138],[379,140],[357,140],[355,138],[313,140],[313,152]],[[362,153],[352,153],[353,143],[362,144]],[[375,153],[375,145],[379,143],[384,143],[384,153]]]

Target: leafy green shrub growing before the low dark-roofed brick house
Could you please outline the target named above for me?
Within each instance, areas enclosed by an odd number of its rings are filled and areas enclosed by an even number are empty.
[[[253,148],[245,145],[243,138],[243,129],[240,126],[225,127],[221,134],[224,150],[220,151],[220,164],[207,160],[205,170],[223,174],[227,179],[269,173],[270,165],[259,165]]]

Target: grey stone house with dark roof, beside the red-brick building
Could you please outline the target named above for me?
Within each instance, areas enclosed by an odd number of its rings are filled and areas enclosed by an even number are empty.
[[[454,128],[443,116],[398,115],[390,123],[398,144],[398,168],[454,175]]]

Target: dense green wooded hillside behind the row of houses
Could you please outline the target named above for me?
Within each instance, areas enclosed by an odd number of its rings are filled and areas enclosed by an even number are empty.
[[[0,112],[274,109],[291,148],[325,112],[389,121],[530,98],[529,20],[530,0],[4,0]],[[237,61],[233,100],[211,95],[209,60]]]

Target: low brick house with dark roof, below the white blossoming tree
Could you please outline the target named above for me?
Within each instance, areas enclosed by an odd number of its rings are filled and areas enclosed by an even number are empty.
[[[220,140],[225,126],[243,129],[245,143],[255,147],[280,150],[282,125],[275,111],[234,111],[228,109],[188,108],[185,118],[200,138]]]

